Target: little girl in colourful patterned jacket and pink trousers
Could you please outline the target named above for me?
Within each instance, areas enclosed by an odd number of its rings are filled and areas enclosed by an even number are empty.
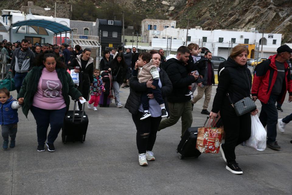
[[[102,77],[99,75],[99,69],[95,69],[93,71],[93,83],[92,86],[90,87],[90,100],[88,101],[88,109],[91,109],[91,104],[93,104],[93,110],[97,110],[96,107],[98,106],[99,103],[99,98],[100,94],[102,91],[105,91],[104,86],[103,86],[103,80]]]

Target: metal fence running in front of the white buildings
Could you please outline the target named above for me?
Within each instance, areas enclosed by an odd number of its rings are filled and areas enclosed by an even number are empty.
[[[231,53],[232,48],[236,45],[245,45],[249,48],[249,58],[256,59],[260,57],[269,57],[270,55],[276,54],[276,50],[281,44],[260,44],[258,42],[239,42],[239,41],[221,41],[221,40],[203,40],[191,38],[186,41],[186,37],[172,37],[172,36],[152,36],[145,37],[141,34],[99,34],[99,43],[101,44],[102,51],[109,50],[113,48],[122,49],[136,47],[138,52],[147,52],[152,49],[159,50],[163,49],[165,55],[175,54],[177,49],[182,45],[188,45],[190,43],[196,43],[203,50],[207,49],[212,52],[213,56],[221,56],[225,59]],[[124,40],[124,41],[123,41]],[[203,52],[202,52],[203,54]],[[103,52],[102,52],[103,55]],[[100,61],[100,60],[99,60]]]

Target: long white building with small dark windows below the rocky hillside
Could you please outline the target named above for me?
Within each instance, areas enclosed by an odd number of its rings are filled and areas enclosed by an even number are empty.
[[[238,44],[246,45],[249,48],[249,58],[258,57],[255,56],[256,52],[260,53],[259,57],[269,57],[276,53],[277,48],[281,45],[282,39],[282,34],[262,34],[255,29],[251,29],[250,32],[245,32],[238,30],[202,30],[200,28],[192,28],[188,30],[188,36],[186,36],[186,33],[187,29],[171,27],[159,32],[157,30],[149,30],[150,37],[148,39],[153,49],[171,48],[171,51],[176,51],[181,45],[196,43],[200,47],[209,49],[214,56],[219,55],[224,58],[227,58],[231,49]]]

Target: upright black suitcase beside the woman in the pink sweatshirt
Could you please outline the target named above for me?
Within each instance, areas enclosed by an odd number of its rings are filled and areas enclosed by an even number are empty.
[[[62,142],[64,144],[75,141],[83,143],[85,141],[88,117],[84,112],[85,103],[82,105],[82,111],[76,111],[77,101],[74,101],[74,109],[69,110],[64,118],[62,127]]]

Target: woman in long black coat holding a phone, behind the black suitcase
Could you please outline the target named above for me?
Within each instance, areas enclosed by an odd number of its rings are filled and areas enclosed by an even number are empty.
[[[69,70],[74,69],[75,73],[79,73],[79,84],[76,85],[77,89],[81,92],[82,96],[89,101],[89,89],[93,83],[93,58],[90,57],[91,50],[85,48],[81,55],[73,59],[68,66]],[[82,110],[82,105],[78,101],[79,110]]]

